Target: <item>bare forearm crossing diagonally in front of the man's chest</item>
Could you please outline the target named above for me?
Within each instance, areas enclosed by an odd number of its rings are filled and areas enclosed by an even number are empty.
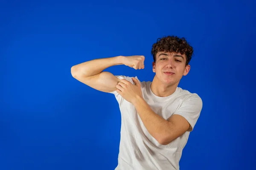
[[[148,133],[160,144],[163,144],[165,137],[171,134],[171,122],[154,113],[143,98],[138,98],[133,104]]]

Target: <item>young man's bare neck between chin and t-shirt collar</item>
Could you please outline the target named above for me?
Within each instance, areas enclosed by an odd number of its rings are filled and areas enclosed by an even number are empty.
[[[167,97],[172,95],[177,88],[179,82],[176,82],[175,84],[168,85],[168,84],[163,84],[160,82],[160,80],[157,78],[157,76],[154,77],[152,83],[151,83],[151,91],[159,97]]]

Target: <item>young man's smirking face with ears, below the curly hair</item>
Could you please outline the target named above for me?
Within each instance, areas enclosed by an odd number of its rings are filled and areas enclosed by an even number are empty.
[[[189,73],[189,70],[190,65],[186,65],[185,54],[158,52],[156,63],[153,62],[153,72],[156,73],[157,79],[165,85],[178,84],[180,79]]]

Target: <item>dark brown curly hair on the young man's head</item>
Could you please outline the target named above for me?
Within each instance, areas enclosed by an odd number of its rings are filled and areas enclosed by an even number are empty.
[[[152,45],[151,54],[153,56],[154,62],[156,62],[157,52],[160,51],[176,52],[182,55],[185,54],[186,65],[188,65],[194,50],[183,37],[179,38],[177,36],[163,36],[162,38],[158,38],[157,42]]]

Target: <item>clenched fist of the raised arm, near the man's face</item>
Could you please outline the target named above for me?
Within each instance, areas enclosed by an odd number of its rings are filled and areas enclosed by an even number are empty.
[[[144,68],[144,56],[122,56],[122,63],[124,65],[127,65],[131,68],[137,69],[143,69]]]

